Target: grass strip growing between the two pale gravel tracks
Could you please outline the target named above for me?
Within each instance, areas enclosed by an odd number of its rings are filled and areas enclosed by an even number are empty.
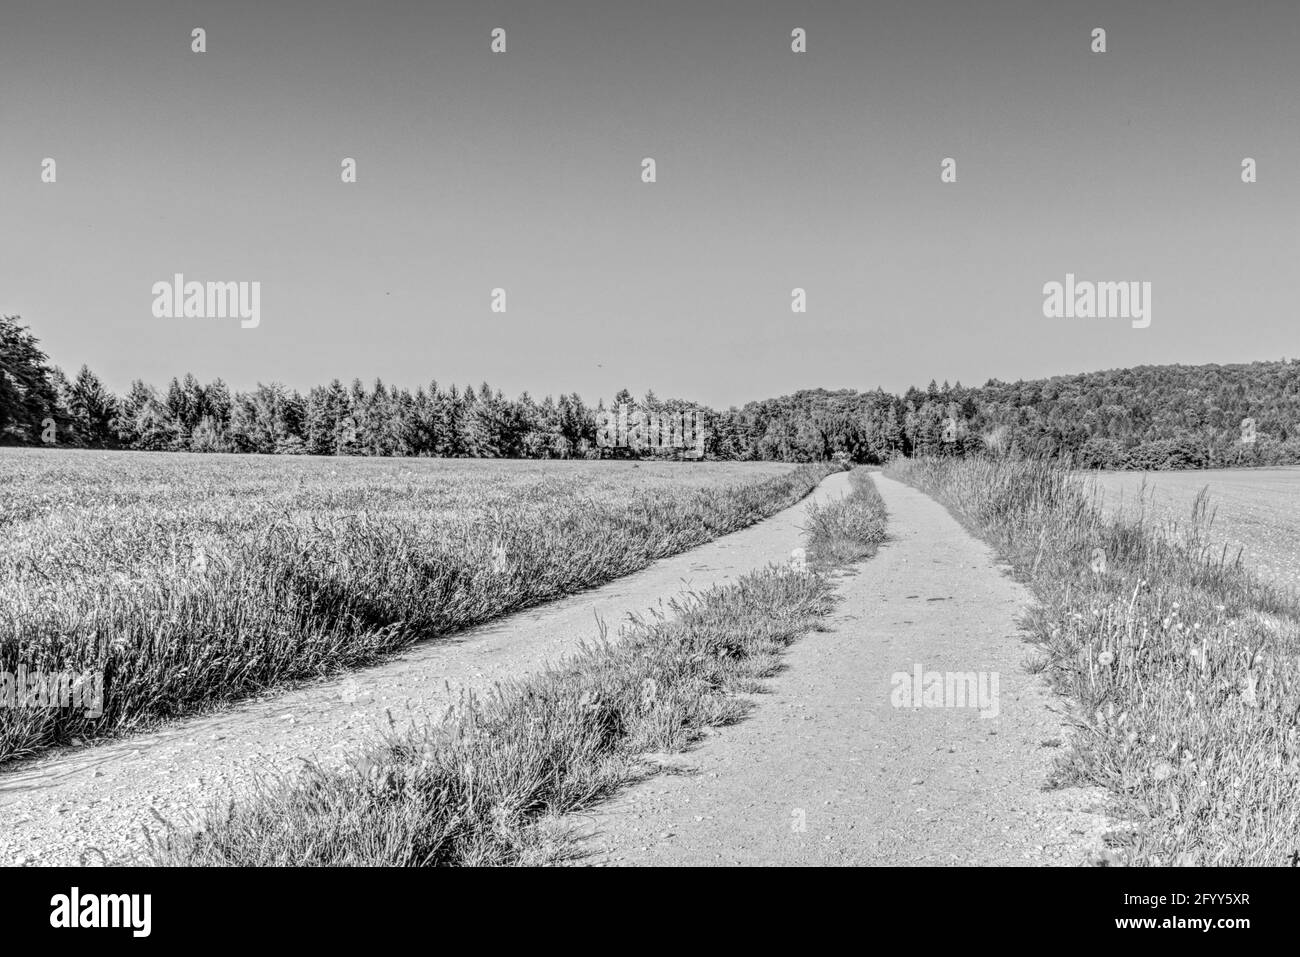
[[[783,650],[832,606],[824,573],[871,554],[884,507],[866,473],[815,510],[810,571],[768,568],[675,605],[534,677],[467,700],[419,735],[344,771],[265,787],[195,835],[152,848],[173,865],[508,865],[564,853],[558,815],[646,774],[638,755],[682,750],[740,720]],[[780,557],[784,559],[784,557]]]

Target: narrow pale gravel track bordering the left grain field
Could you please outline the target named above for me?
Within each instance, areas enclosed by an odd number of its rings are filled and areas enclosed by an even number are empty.
[[[807,499],[751,528],[642,572],[400,658],[220,714],[169,724],[120,742],[56,754],[0,774],[0,866],[118,862],[162,819],[183,826],[196,810],[246,792],[260,774],[291,772],[302,759],[339,763],[389,723],[437,716],[462,689],[537,670],[629,614],[690,589],[720,584],[802,544],[810,501],[848,494],[828,477]]]

